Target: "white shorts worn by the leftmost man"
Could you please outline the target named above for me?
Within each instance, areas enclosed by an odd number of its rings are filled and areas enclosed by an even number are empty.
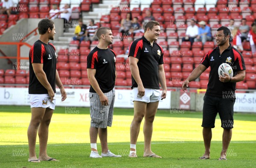
[[[56,99],[53,97],[51,102],[49,94],[29,94],[29,99],[31,108],[41,107],[51,108],[52,110],[55,109]]]

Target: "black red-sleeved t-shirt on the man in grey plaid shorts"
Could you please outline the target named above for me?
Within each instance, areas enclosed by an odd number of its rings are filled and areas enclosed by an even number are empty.
[[[96,69],[95,78],[103,93],[111,91],[115,87],[116,80],[116,54],[110,48],[93,48],[87,56],[87,69]],[[92,85],[90,92],[96,93]]]

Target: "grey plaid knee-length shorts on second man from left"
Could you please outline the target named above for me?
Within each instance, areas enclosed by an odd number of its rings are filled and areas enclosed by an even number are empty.
[[[112,125],[115,89],[104,94],[108,97],[108,106],[101,104],[97,93],[89,92],[91,127],[107,128]]]

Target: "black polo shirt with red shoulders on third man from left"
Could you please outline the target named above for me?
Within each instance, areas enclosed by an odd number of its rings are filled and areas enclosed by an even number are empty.
[[[128,57],[136,57],[139,60],[137,65],[144,88],[160,89],[158,65],[163,64],[163,48],[155,42],[152,47],[143,36],[131,43]],[[131,80],[131,88],[138,87],[133,77]]]

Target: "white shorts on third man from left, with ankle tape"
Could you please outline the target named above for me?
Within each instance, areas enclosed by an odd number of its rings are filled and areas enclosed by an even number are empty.
[[[138,88],[133,88],[133,101],[140,101],[145,103],[157,102],[161,100],[161,92],[159,89],[145,88],[145,95],[138,95]]]

